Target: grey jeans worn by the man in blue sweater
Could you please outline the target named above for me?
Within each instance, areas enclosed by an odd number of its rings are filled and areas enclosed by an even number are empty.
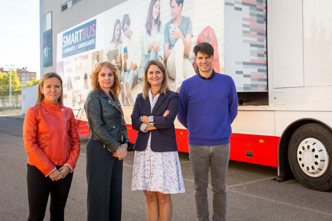
[[[201,146],[189,144],[190,165],[194,176],[194,199],[196,215],[200,221],[208,221],[207,185],[208,170],[211,169],[213,191],[212,220],[225,220],[226,215],[226,175],[230,144]]]

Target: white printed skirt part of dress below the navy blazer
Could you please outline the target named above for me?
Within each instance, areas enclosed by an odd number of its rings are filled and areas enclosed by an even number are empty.
[[[178,152],[153,152],[149,144],[135,151],[131,190],[185,192]]]

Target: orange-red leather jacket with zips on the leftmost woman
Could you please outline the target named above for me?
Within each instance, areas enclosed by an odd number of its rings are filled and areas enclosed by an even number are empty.
[[[47,176],[55,166],[70,165],[74,170],[80,154],[80,137],[70,108],[45,99],[29,108],[23,124],[28,164]]]

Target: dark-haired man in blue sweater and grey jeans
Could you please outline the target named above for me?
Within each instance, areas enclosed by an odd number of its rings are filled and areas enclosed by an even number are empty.
[[[212,220],[225,220],[229,137],[231,123],[237,115],[237,94],[233,79],[212,69],[214,49],[211,44],[199,43],[194,47],[194,53],[199,72],[182,83],[178,119],[189,132],[197,218],[209,220],[207,185],[210,167]]]

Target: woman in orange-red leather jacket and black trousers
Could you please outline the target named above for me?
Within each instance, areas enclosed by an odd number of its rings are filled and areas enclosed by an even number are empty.
[[[28,220],[43,220],[51,194],[50,220],[64,220],[80,138],[73,111],[64,107],[62,79],[56,73],[41,77],[36,106],[26,112],[24,146],[28,154]]]

